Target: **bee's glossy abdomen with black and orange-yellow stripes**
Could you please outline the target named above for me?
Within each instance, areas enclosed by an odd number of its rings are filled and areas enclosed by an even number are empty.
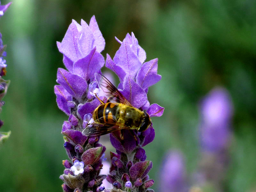
[[[101,124],[108,123],[108,121],[113,119],[112,116],[117,117],[119,104],[120,103],[108,102],[100,105],[93,113],[93,120],[95,121],[98,119]]]

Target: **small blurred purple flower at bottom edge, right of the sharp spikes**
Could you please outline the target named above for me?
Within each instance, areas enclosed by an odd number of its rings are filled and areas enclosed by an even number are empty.
[[[170,151],[165,157],[160,171],[159,191],[185,192],[186,168],[182,154]]]

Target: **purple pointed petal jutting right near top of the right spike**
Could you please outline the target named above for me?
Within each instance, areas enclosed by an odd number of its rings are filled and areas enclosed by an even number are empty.
[[[136,82],[142,89],[146,89],[160,81],[161,75],[157,75],[157,61],[157,58],[150,60],[144,63],[140,68],[136,77]]]

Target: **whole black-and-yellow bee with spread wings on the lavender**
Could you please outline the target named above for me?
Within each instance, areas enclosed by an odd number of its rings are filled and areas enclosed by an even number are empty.
[[[95,78],[108,100],[104,103],[95,94],[102,104],[94,110],[94,122],[84,129],[84,135],[94,137],[120,131],[120,138],[123,140],[124,129],[131,132],[143,132],[148,129],[151,119],[147,112],[133,107],[105,76],[95,74]]]

